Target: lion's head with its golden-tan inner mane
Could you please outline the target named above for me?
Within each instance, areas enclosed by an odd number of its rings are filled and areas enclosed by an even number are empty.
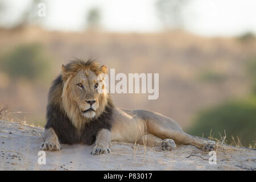
[[[81,128],[84,122],[97,119],[108,105],[109,95],[102,92],[105,90],[102,75],[108,71],[94,60],[75,60],[61,68],[63,107],[73,125]]]

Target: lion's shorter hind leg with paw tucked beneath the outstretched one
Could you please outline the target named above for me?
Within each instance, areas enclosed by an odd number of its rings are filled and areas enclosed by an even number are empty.
[[[147,147],[162,147],[162,150],[174,150],[176,144],[172,139],[161,139],[152,134],[142,136],[138,141],[138,144],[146,145]]]

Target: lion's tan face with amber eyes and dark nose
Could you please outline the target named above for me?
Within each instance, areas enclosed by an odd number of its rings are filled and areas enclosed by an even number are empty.
[[[94,118],[100,105],[101,94],[98,92],[100,80],[97,75],[90,70],[81,70],[70,82],[72,85],[72,95],[77,102],[81,114],[88,118]]]

